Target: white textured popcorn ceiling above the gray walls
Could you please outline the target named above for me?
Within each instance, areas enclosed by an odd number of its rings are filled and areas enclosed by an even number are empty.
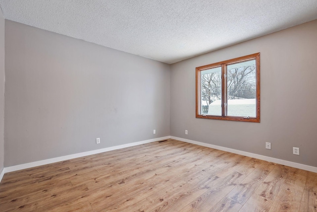
[[[0,0],[4,18],[172,64],[317,19],[317,0]]]

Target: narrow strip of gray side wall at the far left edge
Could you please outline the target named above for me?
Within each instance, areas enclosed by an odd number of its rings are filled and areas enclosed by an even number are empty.
[[[4,17],[0,9],[0,172],[4,160]]]

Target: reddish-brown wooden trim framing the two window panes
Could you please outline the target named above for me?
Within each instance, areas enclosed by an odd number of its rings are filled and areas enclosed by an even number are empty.
[[[224,107],[224,103],[227,102],[226,97],[226,79],[224,73],[227,73],[226,66],[249,61],[249,60],[256,60],[256,117],[238,117],[238,116],[225,116],[225,111],[227,107]],[[200,71],[204,71],[207,69],[221,67],[221,116],[212,116],[212,115],[202,115],[200,114],[200,107],[201,107],[201,78],[200,78]],[[218,63],[209,64],[206,66],[201,66],[196,68],[196,118],[202,119],[215,119],[215,120],[228,120],[228,121],[240,121],[240,122],[257,122],[260,123],[260,53],[247,55],[239,58],[234,58]]]

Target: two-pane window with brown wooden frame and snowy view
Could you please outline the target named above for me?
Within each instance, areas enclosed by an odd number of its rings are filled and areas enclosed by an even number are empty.
[[[260,122],[260,53],[196,68],[196,118]]]

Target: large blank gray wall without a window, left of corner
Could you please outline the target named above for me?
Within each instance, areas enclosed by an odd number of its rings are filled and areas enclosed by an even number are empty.
[[[5,167],[170,135],[169,65],[9,20],[5,45]]]

